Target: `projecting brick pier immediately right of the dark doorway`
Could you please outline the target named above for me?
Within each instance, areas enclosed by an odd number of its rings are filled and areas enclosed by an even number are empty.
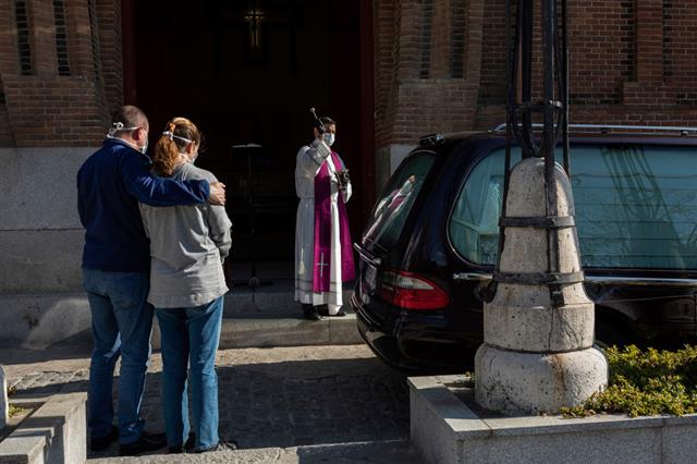
[[[376,145],[470,129],[482,0],[375,2]]]

